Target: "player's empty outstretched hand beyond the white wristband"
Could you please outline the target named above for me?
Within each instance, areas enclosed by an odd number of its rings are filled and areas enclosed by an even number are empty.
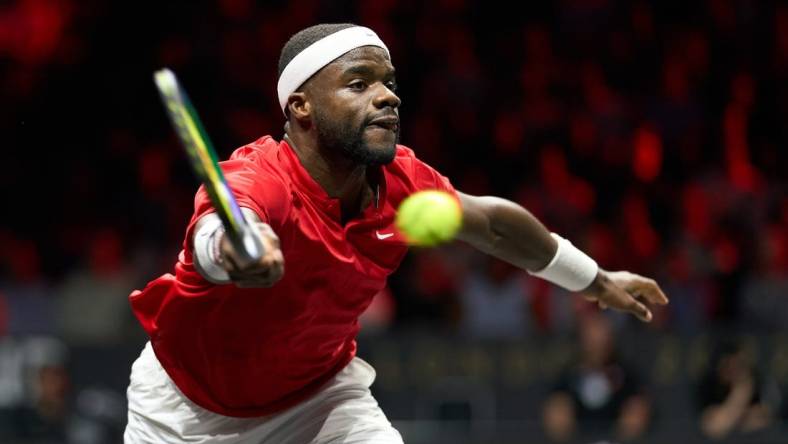
[[[628,271],[605,271],[601,268],[583,296],[599,308],[628,311],[641,321],[650,322],[651,311],[643,304],[665,305],[668,298],[653,280]]]

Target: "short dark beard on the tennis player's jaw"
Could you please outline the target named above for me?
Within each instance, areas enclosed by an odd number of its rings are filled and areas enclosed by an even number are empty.
[[[354,127],[348,121],[332,121],[319,112],[315,112],[315,129],[320,146],[329,152],[342,153],[354,163],[366,166],[386,165],[394,160],[397,154],[399,130],[390,143],[371,145],[365,138],[368,122]]]

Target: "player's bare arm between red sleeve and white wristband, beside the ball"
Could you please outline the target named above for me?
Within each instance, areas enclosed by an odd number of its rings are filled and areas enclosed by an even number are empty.
[[[460,199],[464,206],[484,205],[484,210],[466,211],[460,239],[485,253],[526,270],[544,268],[558,245],[550,232],[528,210],[514,202],[484,196],[475,201]]]

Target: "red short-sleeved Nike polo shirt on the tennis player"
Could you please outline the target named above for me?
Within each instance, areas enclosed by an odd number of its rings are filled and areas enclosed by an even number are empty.
[[[399,203],[422,189],[455,191],[398,145],[381,167],[377,205],[342,225],[339,200],[284,141],[263,137],[220,165],[239,204],[279,236],[284,277],[266,289],[203,279],[187,248],[195,222],[213,211],[200,189],[175,275],[133,292],[131,306],[189,399],[222,415],[260,416],[309,397],[355,356],[358,316],[407,251],[393,225]]]

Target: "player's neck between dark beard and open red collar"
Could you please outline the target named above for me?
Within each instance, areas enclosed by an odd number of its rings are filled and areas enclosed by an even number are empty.
[[[297,135],[287,134],[285,140],[315,182],[330,197],[339,199],[343,222],[369,205],[374,193],[365,165],[353,163],[335,153],[326,153]]]

